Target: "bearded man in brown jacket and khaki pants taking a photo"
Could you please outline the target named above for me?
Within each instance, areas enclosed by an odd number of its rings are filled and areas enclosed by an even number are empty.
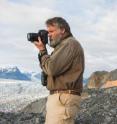
[[[39,49],[40,65],[47,74],[47,89],[50,91],[45,123],[74,124],[83,87],[84,52],[65,19],[54,17],[48,19],[46,25],[54,51],[48,55],[40,38],[34,43]]]

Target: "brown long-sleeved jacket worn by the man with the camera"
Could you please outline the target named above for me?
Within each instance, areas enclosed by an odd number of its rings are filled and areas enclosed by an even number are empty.
[[[48,75],[48,90],[82,91],[84,52],[74,37],[61,41],[52,55],[44,55],[41,58],[41,67]]]

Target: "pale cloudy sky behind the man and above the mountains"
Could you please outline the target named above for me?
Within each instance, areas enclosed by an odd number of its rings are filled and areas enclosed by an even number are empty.
[[[39,51],[27,33],[46,29],[55,16],[67,20],[84,49],[84,77],[117,69],[117,0],[0,0],[0,67],[40,72]]]

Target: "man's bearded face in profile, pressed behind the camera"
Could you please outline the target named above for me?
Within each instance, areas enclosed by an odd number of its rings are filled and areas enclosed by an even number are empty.
[[[47,31],[50,39],[50,46],[54,47],[63,37],[64,30],[60,29],[56,24],[54,24],[48,25]]]

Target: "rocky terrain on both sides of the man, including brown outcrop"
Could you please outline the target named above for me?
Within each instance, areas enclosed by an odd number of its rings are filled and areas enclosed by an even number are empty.
[[[0,112],[0,124],[44,124],[46,101],[39,98],[16,112]],[[117,69],[97,71],[88,78],[75,124],[117,124]]]

